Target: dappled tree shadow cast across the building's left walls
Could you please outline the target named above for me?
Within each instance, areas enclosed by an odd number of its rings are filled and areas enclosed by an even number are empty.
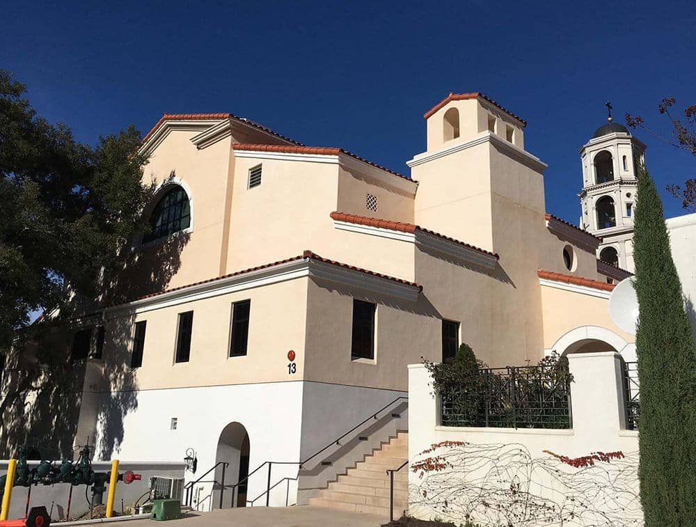
[[[131,364],[134,314],[113,306],[165,290],[188,241],[188,234],[177,233],[148,246],[128,246],[116,277],[105,279],[100,299],[75,311],[86,314],[41,320],[33,328],[29,343],[8,358],[3,372],[0,454],[5,459],[15,457],[22,445],[43,459],[72,459],[75,444],[95,440],[95,459],[118,453],[123,420],[138,407],[138,384]],[[96,336],[100,326],[105,328],[102,359],[73,360],[75,331],[92,327]],[[90,349],[95,351],[95,338]],[[88,418],[79,423],[81,414]]]

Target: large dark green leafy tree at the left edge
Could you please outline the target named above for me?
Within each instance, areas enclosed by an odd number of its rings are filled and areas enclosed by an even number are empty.
[[[0,70],[0,352],[40,338],[49,324],[29,327],[32,311],[65,319],[97,300],[152,195],[133,126],[81,144],[40,118],[25,91]]]

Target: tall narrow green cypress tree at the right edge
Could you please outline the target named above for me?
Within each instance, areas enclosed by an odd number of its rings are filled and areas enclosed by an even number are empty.
[[[644,167],[635,210],[640,501],[647,526],[696,525],[696,346],[663,205]]]

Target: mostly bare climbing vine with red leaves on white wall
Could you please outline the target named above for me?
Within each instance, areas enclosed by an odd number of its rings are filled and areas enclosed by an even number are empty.
[[[532,457],[519,443],[444,441],[411,464],[413,511],[455,523],[642,525],[638,453]]]

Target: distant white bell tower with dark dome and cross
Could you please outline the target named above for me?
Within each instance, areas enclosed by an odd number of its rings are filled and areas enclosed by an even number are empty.
[[[580,228],[602,239],[597,258],[633,272],[633,215],[638,166],[645,145],[624,125],[614,123],[606,103],[607,122],[597,128],[583,148],[583,189]]]

